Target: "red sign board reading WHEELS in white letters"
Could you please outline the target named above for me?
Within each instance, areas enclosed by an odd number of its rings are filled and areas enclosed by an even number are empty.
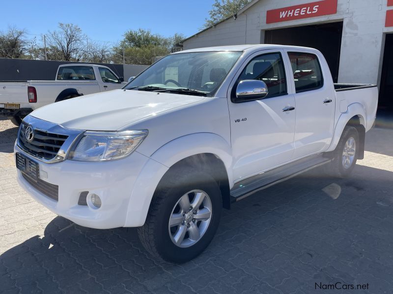
[[[266,12],[266,24],[280,23],[337,13],[337,0],[323,0]]]

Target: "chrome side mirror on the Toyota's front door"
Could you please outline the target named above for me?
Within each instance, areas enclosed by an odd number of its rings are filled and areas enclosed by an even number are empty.
[[[268,94],[265,82],[260,80],[242,80],[236,88],[236,98],[234,103],[253,101],[265,98]]]

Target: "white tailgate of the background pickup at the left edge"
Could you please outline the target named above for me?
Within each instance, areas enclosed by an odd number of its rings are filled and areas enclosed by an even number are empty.
[[[28,103],[27,81],[4,81],[0,82],[0,104],[5,103]],[[0,105],[0,108],[3,108]]]

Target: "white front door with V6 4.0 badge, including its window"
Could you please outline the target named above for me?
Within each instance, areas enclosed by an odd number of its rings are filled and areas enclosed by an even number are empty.
[[[289,161],[294,150],[295,99],[288,95],[281,50],[254,53],[232,81],[228,93],[234,180]],[[260,100],[234,103],[241,80],[263,80],[269,94]],[[289,86],[291,87],[291,86]]]

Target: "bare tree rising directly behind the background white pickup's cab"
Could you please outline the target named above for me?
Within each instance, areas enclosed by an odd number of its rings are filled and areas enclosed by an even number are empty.
[[[49,32],[47,56],[50,60],[81,61],[87,53],[87,37],[78,25],[61,24]]]

